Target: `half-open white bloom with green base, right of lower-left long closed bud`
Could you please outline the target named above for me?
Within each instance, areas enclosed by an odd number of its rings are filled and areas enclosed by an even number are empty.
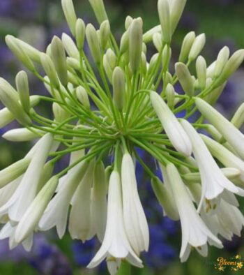
[[[83,161],[75,165],[66,179],[66,183],[59,189],[58,193],[52,198],[45,210],[43,217],[40,219],[40,230],[49,230],[56,226],[59,238],[63,237],[66,231],[68,218],[68,207],[75,193],[75,190],[82,180],[88,163]]]

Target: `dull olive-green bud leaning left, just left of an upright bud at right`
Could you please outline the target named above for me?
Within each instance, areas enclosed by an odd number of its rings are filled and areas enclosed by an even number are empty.
[[[176,75],[178,77],[179,82],[181,83],[181,87],[185,91],[185,94],[188,96],[194,95],[194,82],[192,80],[192,75],[190,75],[190,71],[188,67],[183,63],[176,63],[175,65]]]

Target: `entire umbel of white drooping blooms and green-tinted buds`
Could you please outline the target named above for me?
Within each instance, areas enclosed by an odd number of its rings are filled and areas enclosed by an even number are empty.
[[[17,120],[22,127],[3,137],[37,140],[24,158],[0,172],[5,224],[0,238],[8,237],[10,248],[23,244],[30,250],[33,232],[56,228],[61,238],[67,228],[73,239],[98,237],[101,246],[89,268],[105,259],[111,274],[121,262],[143,267],[139,257],[148,250],[149,234],[137,191],[137,160],[151,177],[164,215],[181,221],[181,262],[192,247],[206,256],[208,244],[221,248],[220,239],[239,236],[244,225],[236,200],[244,195],[244,135],[238,130],[244,105],[231,121],[213,107],[243,62],[244,50],[230,55],[223,47],[207,66],[199,55],[205,36],[192,31],[171,68],[171,38],[185,1],[159,0],[160,24],[146,32],[142,18],[126,17],[119,41],[102,0],[89,2],[100,28],[85,25],[73,2],[62,0],[73,37],[54,36],[46,52],[6,36],[10,50],[43,81],[49,96],[30,95],[24,70],[15,85],[0,79],[6,106],[0,125]],[[148,59],[150,43],[155,54]],[[178,82],[184,94],[175,90]],[[36,109],[43,102],[52,117]],[[197,110],[201,115],[190,124]],[[177,119],[182,111],[185,116]],[[164,182],[138,156],[138,147],[155,158]],[[66,154],[68,167],[54,174],[55,163]]]

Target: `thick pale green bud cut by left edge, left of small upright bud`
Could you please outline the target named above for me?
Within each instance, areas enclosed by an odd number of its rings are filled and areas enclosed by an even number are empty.
[[[20,124],[24,126],[31,124],[31,119],[24,112],[18,101],[17,92],[3,79],[0,79],[0,101],[8,108]]]

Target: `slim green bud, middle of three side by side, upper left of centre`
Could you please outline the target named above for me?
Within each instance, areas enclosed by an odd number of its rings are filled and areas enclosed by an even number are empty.
[[[91,51],[91,55],[96,64],[100,64],[101,50],[98,40],[98,34],[92,24],[86,26],[86,38]]]

